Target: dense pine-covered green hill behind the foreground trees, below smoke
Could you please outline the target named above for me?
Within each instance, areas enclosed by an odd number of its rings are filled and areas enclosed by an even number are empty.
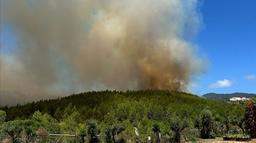
[[[67,97],[40,100],[14,107],[1,107],[6,111],[6,121],[31,118],[37,110],[50,114],[58,121],[64,115],[79,113],[80,122],[94,118],[99,122],[105,120],[109,113],[119,121],[129,120],[138,123],[143,117],[152,120],[164,120],[170,116],[195,119],[204,108],[210,108],[220,115],[236,114],[233,105],[223,105],[214,100],[197,95],[169,90],[138,91],[92,91],[72,94]],[[238,110],[236,108],[236,110]]]

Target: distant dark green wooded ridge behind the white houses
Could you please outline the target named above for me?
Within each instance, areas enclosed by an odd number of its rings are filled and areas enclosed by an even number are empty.
[[[204,98],[206,99],[229,99],[231,97],[256,97],[256,94],[251,94],[251,93],[240,93],[240,92],[235,92],[232,94],[216,94],[216,93],[208,93],[203,95]]]

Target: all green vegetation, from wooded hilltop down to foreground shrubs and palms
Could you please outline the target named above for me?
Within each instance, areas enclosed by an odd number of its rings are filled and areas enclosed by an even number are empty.
[[[190,129],[215,138],[239,128],[254,135],[256,127],[254,98],[246,106],[224,105],[168,90],[93,91],[1,110],[1,138],[24,142],[196,141]]]

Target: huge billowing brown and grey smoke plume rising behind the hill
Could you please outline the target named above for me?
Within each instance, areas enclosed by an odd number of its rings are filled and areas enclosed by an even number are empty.
[[[206,62],[193,39],[198,2],[181,0],[1,0],[17,51],[1,53],[1,89],[188,91]]]

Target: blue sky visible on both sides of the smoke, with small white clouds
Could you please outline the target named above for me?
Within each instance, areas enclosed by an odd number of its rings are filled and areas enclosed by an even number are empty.
[[[206,0],[203,28],[193,42],[210,62],[194,94],[256,93],[256,4],[254,0]],[[1,52],[17,52],[16,37],[1,23]]]

